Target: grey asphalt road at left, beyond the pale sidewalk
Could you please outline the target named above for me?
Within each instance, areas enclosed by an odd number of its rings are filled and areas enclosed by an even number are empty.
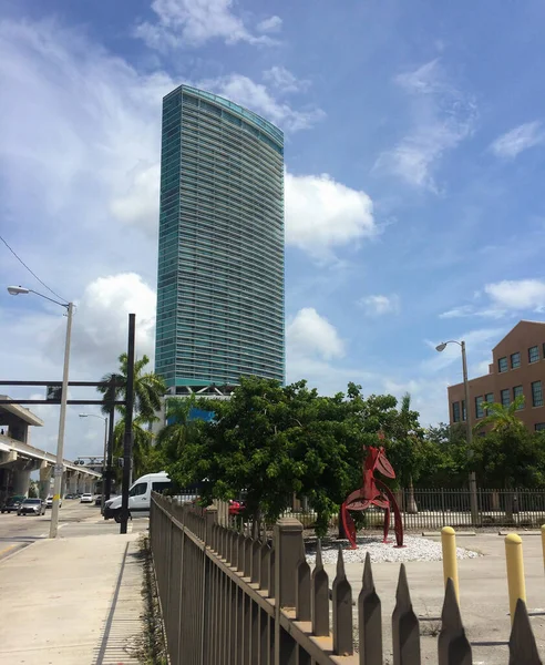
[[[0,561],[11,556],[21,548],[37,540],[47,539],[51,524],[51,509],[42,516],[18,516],[17,513],[0,514]],[[145,531],[147,519],[128,523],[128,532]],[[80,503],[79,500],[64,500],[60,510],[59,538],[100,535],[119,533],[120,525],[114,520],[105,521],[97,505]]]

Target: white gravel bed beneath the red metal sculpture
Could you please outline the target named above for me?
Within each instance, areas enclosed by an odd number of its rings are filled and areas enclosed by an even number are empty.
[[[358,549],[348,550],[348,541],[335,541],[322,543],[321,555],[323,563],[337,563],[339,545],[342,548],[345,563],[364,563],[366,554],[369,552],[373,563],[402,563],[405,561],[441,561],[443,559],[441,543],[428,538],[405,535],[403,539],[405,548],[394,548],[395,540],[384,544],[379,536],[362,535],[357,539]],[[477,552],[456,548],[457,559],[475,559]],[[316,551],[307,554],[307,561],[316,563]]]

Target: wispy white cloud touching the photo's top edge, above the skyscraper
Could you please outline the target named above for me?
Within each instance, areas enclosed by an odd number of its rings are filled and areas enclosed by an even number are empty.
[[[152,10],[156,21],[138,23],[135,37],[158,51],[202,47],[213,39],[222,39],[227,44],[275,43],[269,37],[251,34],[233,12],[233,0],[154,0]]]

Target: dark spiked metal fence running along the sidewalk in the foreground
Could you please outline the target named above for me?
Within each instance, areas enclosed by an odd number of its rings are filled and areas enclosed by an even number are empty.
[[[280,519],[268,541],[220,526],[216,516],[216,507],[152,500],[151,546],[172,665],[382,665],[381,602],[369,555],[354,622],[341,550],[330,592],[320,545],[311,571],[297,520]],[[471,665],[451,580],[441,618],[436,662]],[[403,565],[391,621],[393,665],[420,665],[420,626]],[[541,661],[520,600],[510,664],[523,663]]]

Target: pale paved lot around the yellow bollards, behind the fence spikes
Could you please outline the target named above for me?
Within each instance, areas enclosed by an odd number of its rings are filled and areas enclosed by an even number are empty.
[[[543,571],[542,539],[525,535],[523,539],[527,607],[539,653],[545,655],[545,580]],[[439,540],[439,539],[432,539]],[[511,632],[508,615],[507,577],[504,538],[480,534],[459,538],[457,545],[481,552],[477,559],[459,561],[460,603],[462,621],[473,649],[473,663],[505,665],[508,662],[507,641]],[[436,663],[438,617],[443,604],[443,564],[441,561],[412,561],[405,564],[414,612],[421,618],[421,648],[423,662]],[[336,566],[325,566],[330,584]],[[372,565],[377,593],[382,603],[384,656],[391,657],[391,615],[395,605],[399,564]],[[352,598],[358,600],[363,566],[347,563],[347,577],[352,585]],[[354,621],[357,612],[354,610]]]

